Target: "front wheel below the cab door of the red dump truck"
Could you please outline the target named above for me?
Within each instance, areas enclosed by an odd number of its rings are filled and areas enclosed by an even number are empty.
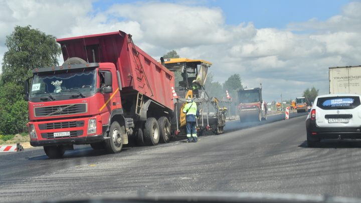
[[[108,153],[119,153],[123,147],[122,135],[124,134],[124,126],[120,126],[114,121],[110,125],[109,139],[105,140],[105,150]]]

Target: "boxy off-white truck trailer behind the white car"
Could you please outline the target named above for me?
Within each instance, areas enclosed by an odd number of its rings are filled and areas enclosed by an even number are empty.
[[[361,94],[361,65],[329,67],[329,93]]]

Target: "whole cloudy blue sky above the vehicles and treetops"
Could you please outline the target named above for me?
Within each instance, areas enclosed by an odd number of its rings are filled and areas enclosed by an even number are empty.
[[[6,36],[31,25],[57,38],[115,32],[154,59],[213,63],[221,84],[263,84],[271,102],[315,87],[328,93],[328,67],[361,65],[361,0],[320,1],[94,1],[0,0],[0,62]],[[65,9],[66,8],[66,9]],[[62,63],[60,58],[60,64]]]

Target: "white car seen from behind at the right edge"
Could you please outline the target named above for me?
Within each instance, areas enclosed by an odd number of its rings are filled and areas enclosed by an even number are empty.
[[[361,139],[360,100],[357,94],[316,97],[306,119],[308,147],[321,139]]]

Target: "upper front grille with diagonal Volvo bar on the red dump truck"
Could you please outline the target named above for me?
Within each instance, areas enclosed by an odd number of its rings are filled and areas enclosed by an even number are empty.
[[[61,106],[47,106],[34,108],[35,117],[51,117],[59,115],[73,115],[88,112],[87,104],[70,104]]]

